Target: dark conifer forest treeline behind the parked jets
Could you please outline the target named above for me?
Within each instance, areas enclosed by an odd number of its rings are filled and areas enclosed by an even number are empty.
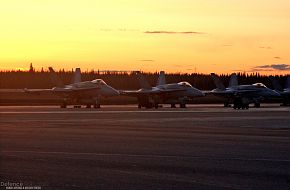
[[[56,72],[64,84],[70,84],[72,81],[73,71],[60,70]],[[158,79],[158,73],[143,73],[148,82],[155,86]],[[220,75],[221,80],[228,86],[230,75]],[[276,76],[281,85],[284,85],[286,77],[284,75]],[[103,79],[107,84],[116,89],[139,89],[136,75],[131,72],[99,72],[90,71],[82,72],[82,81],[93,80],[96,78]],[[259,73],[238,73],[239,84],[252,84],[262,82],[268,87],[272,87],[268,76]],[[168,73],[166,74],[167,83],[187,81],[194,87],[202,90],[211,90],[215,88],[210,75],[192,73]],[[52,84],[50,73],[48,71],[0,71],[0,88],[17,89],[17,88],[51,88]]]

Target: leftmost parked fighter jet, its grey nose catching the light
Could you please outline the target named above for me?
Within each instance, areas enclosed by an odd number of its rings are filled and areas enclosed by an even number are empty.
[[[66,108],[68,103],[85,104],[87,108],[91,105],[94,108],[100,108],[101,97],[117,96],[119,91],[107,85],[102,79],[81,82],[80,69],[76,69],[73,83],[63,85],[62,81],[57,78],[56,73],[50,67],[51,79],[56,84],[52,89],[25,89],[28,93],[51,92],[63,99],[61,108]]]

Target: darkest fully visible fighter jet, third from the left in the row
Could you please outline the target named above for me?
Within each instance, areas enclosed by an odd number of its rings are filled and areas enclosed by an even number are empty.
[[[280,96],[279,93],[267,88],[262,83],[252,85],[235,85],[225,88],[214,73],[212,73],[211,76],[217,88],[212,90],[210,93],[232,101],[234,104],[234,109],[248,109],[250,103],[254,103],[255,107],[260,107],[260,102],[262,100]],[[235,75],[232,75],[232,77],[233,76]],[[234,82],[234,84],[237,84],[237,82]]]

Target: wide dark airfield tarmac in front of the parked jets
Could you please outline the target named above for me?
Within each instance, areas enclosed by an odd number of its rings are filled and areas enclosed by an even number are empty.
[[[289,107],[2,106],[0,114],[1,184],[134,190],[290,187]]]

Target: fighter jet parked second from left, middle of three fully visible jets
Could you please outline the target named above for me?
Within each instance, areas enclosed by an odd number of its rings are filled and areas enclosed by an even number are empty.
[[[136,72],[141,89],[135,91],[121,91],[121,94],[138,98],[138,108],[146,107],[158,108],[161,103],[180,104],[181,108],[186,107],[186,103],[194,97],[204,96],[204,94],[192,87],[188,82],[166,84],[164,71],[160,72],[157,85],[152,87],[140,72]]]

